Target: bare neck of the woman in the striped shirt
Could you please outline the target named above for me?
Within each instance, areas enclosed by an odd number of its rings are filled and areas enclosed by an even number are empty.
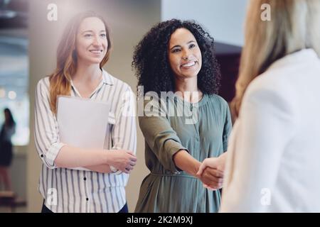
[[[77,70],[72,76],[73,82],[94,82],[101,77],[99,64],[86,64],[78,61]]]

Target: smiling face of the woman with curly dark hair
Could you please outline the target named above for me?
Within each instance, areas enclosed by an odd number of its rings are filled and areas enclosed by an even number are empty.
[[[202,57],[196,38],[186,28],[178,28],[169,41],[169,63],[177,78],[196,77]]]

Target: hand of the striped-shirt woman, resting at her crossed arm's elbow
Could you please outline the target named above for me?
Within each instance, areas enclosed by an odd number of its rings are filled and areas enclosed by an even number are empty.
[[[130,173],[136,165],[137,157],[129,150],[110,150],[107,164],[125,173]]]

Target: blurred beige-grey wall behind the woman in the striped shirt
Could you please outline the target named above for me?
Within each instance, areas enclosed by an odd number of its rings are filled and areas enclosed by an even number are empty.
[[[58,6],[58,21],[47,20],[48,4]],[[42,201],[38,192],[38,177],[41,161],[34,146],[34,96],[39,79],[53,72],[55,68],[55,52],[58,40],[66,21],[75,13],[92,9],[105,16],[111,30],[114,48],[110,62],[105,69],[115,77],[127,82],[136,91],[137,79],[132,72],[131,62],[134,46],[137,45],[146,31],[161,19],[161,1],[158,0],[31,0],[29,25],[29,57],[31,97],[31,143],[28,146],[27,161],[27,199],[28,212],[41,211]],[[139,195],[142,179],[148,171],[144,165],[144,140],[138,126],[138,163],[127,185],[127,201],[129,211]]]

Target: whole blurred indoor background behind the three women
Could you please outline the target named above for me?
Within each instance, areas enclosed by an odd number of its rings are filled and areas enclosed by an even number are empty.
[[[58,18],[50,21],[49,4],[57,6]],[[33,142],[34,96],[39,79],[53,72],[58,40],[66,21],[88,9],[107,19],[114,48],[105,70],[127,82],[134,91],[137,79],[131,62],[134,46],[159,21],[193,19],[216,40],[223,82],[220,95],[230,101],[238,74],[247,0],[0,0],[0,124],[3,109],[16,121],[12,138],[14,159],[9,169],[12,190],[0,185],[0,212],[40,212],[38,192],[41,160]],[[144,139],[138,128],[138,164],[127,185],[129,211],[134,211],[144,165]],[[0,148],[1,149],[1,148]]]

